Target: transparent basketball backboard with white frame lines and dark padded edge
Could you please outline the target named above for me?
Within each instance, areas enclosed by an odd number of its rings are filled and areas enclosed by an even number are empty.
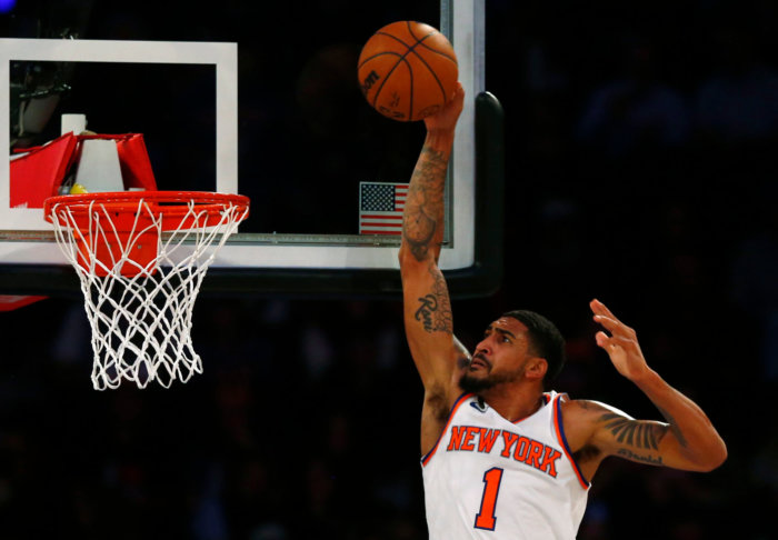
[[[502,134],[499,102],[483,88],[483,1],[355,2],[349,17],[323,3],[260,10],[246,0],[166,18],[84,2],[84,13],[59,13],[59,22],[52,13],[48,36],[20,24],[0,38],[0,86],[10,97],[0,103],[0,124],[10,128],[0,141],[12,151],[43,144],[60,136],[62,114],[84,114],[98,133],[142,133],[160,190],[248,196],[250,217],[219,252],[205,292],[395,294],[400,237],[361,227],[360,210],[369,190],[409,181],[423,124],[372,110],[356,61],[380,27],[421,20],[453,43],[468,96],[441,268],[453,296],[493,291]],[[308,16],[293,17],[300,9]],[[10,166],[0,167],[0,293],[77,289],[42,211],[11,204]]]

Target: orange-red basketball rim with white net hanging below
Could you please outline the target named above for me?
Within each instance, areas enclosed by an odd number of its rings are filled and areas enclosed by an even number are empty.
[[[192,309],[219,249],[249,213],[238,194],[121,191],[52,197],[43,212],[81,281],[96,390],[169,388],[202,372]]]

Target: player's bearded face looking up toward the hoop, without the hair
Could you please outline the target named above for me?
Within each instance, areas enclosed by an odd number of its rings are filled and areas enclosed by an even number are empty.
[[[518,380],[528,358],[527,327],[512,317],[498,319],[487,327],[483,339],[476,346],[460,386],[476,391]]]

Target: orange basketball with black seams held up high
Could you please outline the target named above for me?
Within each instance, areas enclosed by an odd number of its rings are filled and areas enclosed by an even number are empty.
[[[392,120],[413,122],[451,99],[459,68],[446,36],[423,22],[397,21],[365,43],[357,74],[373,109]]]

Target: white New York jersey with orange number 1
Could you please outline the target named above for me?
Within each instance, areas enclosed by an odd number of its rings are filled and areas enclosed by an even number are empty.
[[[421,460],[430,540],[571,540],[589,482],[548,392],[533,414],[511,422],[471,393],[451,409]]]

